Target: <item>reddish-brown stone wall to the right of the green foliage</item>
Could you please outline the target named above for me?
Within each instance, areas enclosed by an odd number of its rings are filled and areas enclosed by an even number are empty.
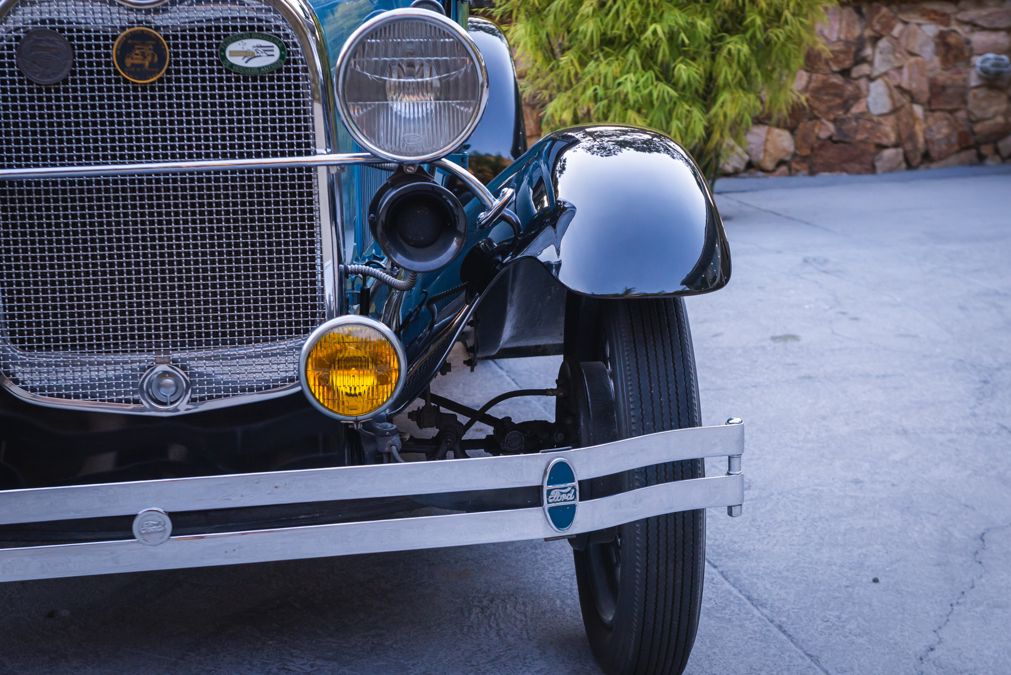
[[[1011,162],[1011,75],[976,70],[1011,54],[1011,0],[852,3],[819,27],[828,56],[798,73],[808,99],[732,144],[730,175],[884,173]]]

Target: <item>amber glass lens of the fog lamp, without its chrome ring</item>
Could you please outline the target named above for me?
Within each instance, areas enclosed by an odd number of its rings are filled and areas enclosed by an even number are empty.
[[[305,360],[312,396],[348,417],[368,415],[389,401],[399,378],[396,350],[371,326],[337,326],[316,340]]]

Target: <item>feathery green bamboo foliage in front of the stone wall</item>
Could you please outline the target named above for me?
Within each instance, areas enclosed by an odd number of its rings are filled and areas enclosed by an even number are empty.
[[[640,124],[669,134],[714,180],[727,139],[785,116],[815,25],[834,0],[499,0],[494,15],[546,100],[544,129]]]

